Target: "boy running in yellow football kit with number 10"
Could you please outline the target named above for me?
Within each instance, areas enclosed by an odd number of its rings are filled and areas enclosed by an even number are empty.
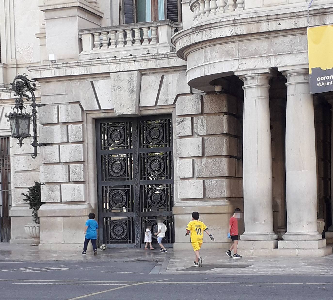
[[[191,232],[191,243],[195,254],[195,267],[202,267],[202,257],[200,256],[199,250],[203,242],[203,232],[206,232],[210,239],[214,242],[213,236],[209,233],[208,227],[199,221],[200,214],[198,212],[192,213],[192,221],[186,226],[186,234]]]

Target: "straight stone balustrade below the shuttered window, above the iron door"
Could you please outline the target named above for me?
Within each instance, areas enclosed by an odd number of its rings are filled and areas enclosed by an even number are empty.
[[[174,51],[171,36],[182,29],[169,20],[84,29],[80,60]]]

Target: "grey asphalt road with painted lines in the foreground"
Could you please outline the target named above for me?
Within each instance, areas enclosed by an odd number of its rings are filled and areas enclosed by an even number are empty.
[[[333,276],[237,275],[237,269],[234,276],[158,274],[160,267],[157,262],[136,261],[0,262],[0,299],[333,298]]]

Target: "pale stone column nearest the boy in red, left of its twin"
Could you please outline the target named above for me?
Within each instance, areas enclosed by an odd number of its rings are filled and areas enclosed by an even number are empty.
[[[243,190],[245,241],[274,240],[272,147],[269,118],[269,79],[272,70],[265,73],[241,75],[244,81],[243,112]],[[243,243],[244,244],[244,243]],[[246,243],[245,243],[246,244]],[[267,248],[265,246],[260,246]],[[246,246],[244,246],[246,248]]]

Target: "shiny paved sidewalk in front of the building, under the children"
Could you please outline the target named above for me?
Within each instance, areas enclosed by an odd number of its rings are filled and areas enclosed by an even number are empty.
[[[159,249],[99,249],[98,255],[87,252],[46,251],[38,250],[37,246],[27,244],[0,244],[0,262],[18,261],[96,261],[101,263],[112,261],[157,261],[161,262],[160,273],[205,273],[223,275],[333,275],[333,254],[325,257],[283,257],[265,258],[248,257],[241,259],[229,258],[224,250],[207,249],[200,251],[203,257],[203,267],[193,266],[194,253],[188,251],[173,251],[160,253]]]

